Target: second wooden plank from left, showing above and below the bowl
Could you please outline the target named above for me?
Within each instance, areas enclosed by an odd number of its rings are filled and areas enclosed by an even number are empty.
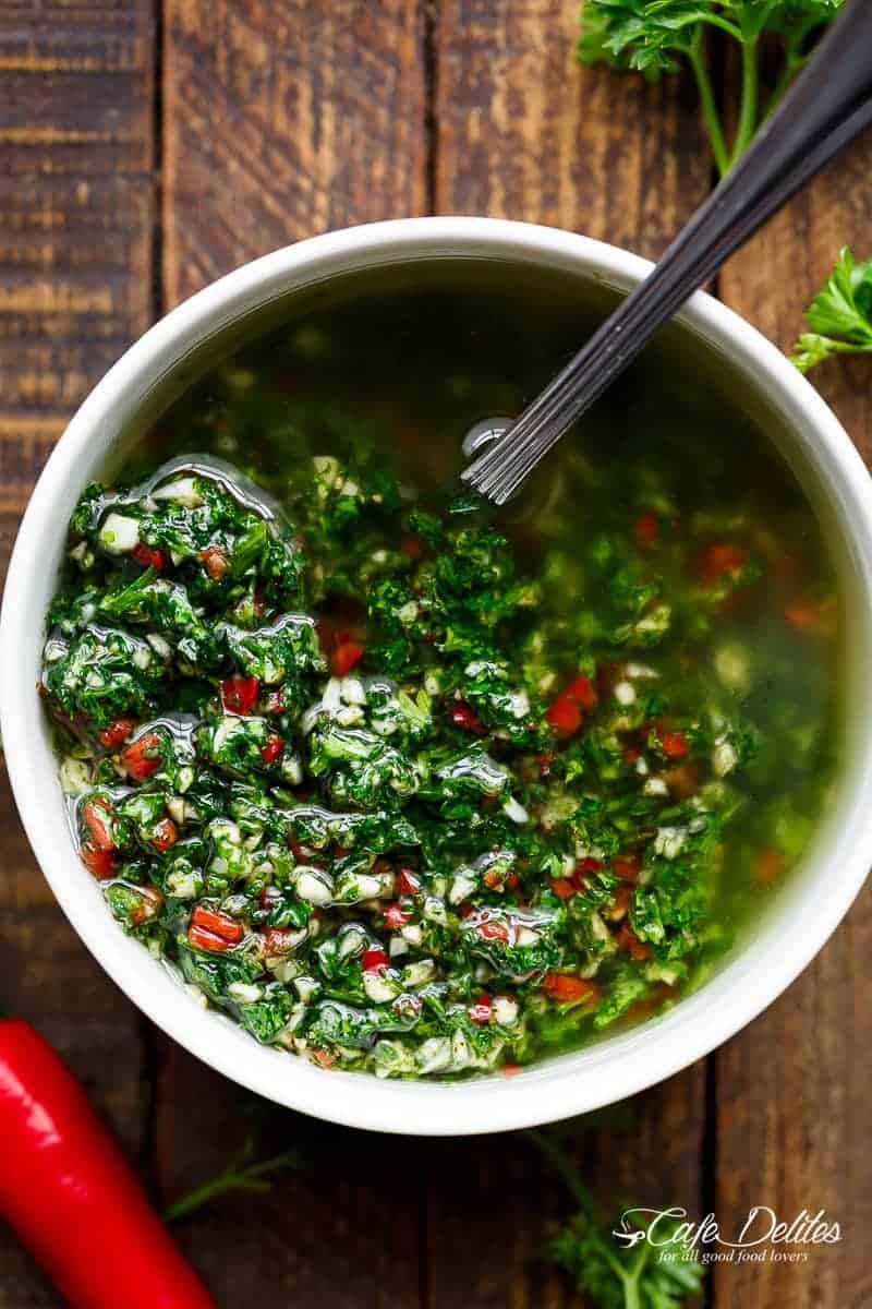
[[[174,304],[328,228],[426,206],[424,4],[166,0],[163,287]],[[162,1042],[159,1182],[220,1170],[246,1097]],[[418,1305],[420,1182],[405,1143],[265,1110],[265,1151],[316,1168],[179,1227],[221,1304]],[[196,1124],[196,1128],[195,1126]]]

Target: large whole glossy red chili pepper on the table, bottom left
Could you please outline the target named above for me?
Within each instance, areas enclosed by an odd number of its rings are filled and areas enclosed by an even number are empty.
[[[0,1212],[72,1309],[216,1309],[67,1066],[0,1020]]]

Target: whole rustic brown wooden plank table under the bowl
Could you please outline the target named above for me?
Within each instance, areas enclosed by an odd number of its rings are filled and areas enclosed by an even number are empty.
[[[93,382],[165,309],[254,255],[428,212],[662,251],[711,185],[693,94],[676,80],[582,71],[575,27],[575,0],[0,0],[4,559]],[[782,346],[839,245],[872,250],[868,149],[718,283]],[[871,454],[869,367],[828,367],[820,384]],[[154,1196],[170,1198],[227,1161],[244,1097],[165,1039],[86,954],[5,791],[0,843],[4,1005],[64,1051]],[[579,1138],[605,1195],[714,1210],[724,1229],[752,1203],[780,1216],[826,1208],[842,1224],[843,1241],[805,1263],[715,1271],[706,1302],[718,1309],[872,1302],[872,1007],[859,999],[869,959],[865,894],[746,1031],[638,1097],[628,1124]],[[269,1111],[265,1148],[293,1141],[312,1145],[315,1170],[178,1228],[222,1306],[578,1304],[536,1262],[566,1202],[523,1140],[413,1141]],[[58,1304],[0,1232],[1,1309]]]

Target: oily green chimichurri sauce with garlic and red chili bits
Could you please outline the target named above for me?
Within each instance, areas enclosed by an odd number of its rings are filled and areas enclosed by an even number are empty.
[[[580,338],[529,279],[298,312],[71,522],[42,694],[81,859],[199,997],[326,1068],[510,1069],[660,1012],[829,783],[814,520],[677,338],[514,520],[429,508]]]

